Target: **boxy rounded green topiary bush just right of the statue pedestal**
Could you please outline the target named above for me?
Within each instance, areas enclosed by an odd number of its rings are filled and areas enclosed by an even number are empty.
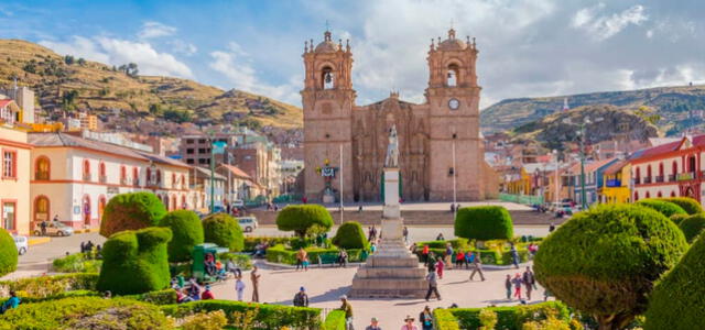
[[[455,218],[455,235],[468,240],[510,240],[514,235],[511,216],[500,206],[460,208]]]

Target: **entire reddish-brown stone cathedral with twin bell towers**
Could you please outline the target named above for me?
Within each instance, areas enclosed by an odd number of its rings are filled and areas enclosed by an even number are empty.
[[[305,42],[304,194],[310,201],[380,201],[390,130],[399,141],[400,193],[404,201],[482,200],[497,195],[479,132],[475,40],[431,40],[425,102],[399,94],[358,106],[349,42],[329,31]],[[341,188],[340,188],[341,187]]]

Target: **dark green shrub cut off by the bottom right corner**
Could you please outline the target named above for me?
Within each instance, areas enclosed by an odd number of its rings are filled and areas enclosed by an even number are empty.
[[[646,330],[702,329],[705,319],[705,237],[695,240],[677,265],[653,288]]]

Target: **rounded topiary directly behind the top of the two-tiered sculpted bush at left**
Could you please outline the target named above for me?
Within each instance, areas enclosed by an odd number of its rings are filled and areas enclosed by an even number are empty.
[[[108,201],[100,221],[100,234],[109,238],[123,230],[159,226],[166,215],[162,201],[152,193],[120,194]]]

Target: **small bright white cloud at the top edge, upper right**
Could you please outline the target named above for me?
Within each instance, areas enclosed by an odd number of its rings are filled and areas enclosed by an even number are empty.
[[[603,41],[621,32],[629,24],[641,25],[649,20],[641,4],[634,4],[611,15],[597,16],[597,12],[603,9],[605,3],[578,10],[573,16],[572,26],[584,30],[597,41]]]

